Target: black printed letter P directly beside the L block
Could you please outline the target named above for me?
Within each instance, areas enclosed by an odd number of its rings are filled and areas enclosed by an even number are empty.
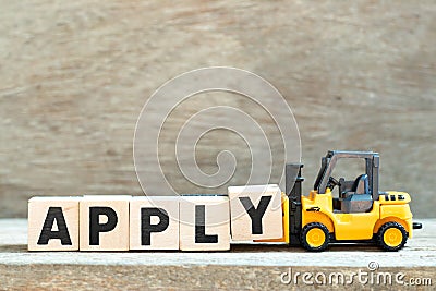
[[[152,216],[159,217],[159,223],[152,225]],[[162,208],[146,207],[141,208],[141,244],[152,244],[152,232],[162,232],[168,228],[170,217]]]

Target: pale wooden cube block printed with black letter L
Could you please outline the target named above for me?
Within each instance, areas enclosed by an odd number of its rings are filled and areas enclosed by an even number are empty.
[[[180,250],[230,250],[229,198],[186,195],[180,199]]]

